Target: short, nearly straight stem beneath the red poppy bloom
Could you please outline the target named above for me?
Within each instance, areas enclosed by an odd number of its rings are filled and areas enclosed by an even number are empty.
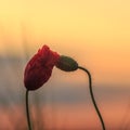
[[[29,108],[28,108],[28,93],[29,93],[29,91],[26,90],[26,115],[27,115],[28,130],[31,130],[30,117],[29,117]]]

